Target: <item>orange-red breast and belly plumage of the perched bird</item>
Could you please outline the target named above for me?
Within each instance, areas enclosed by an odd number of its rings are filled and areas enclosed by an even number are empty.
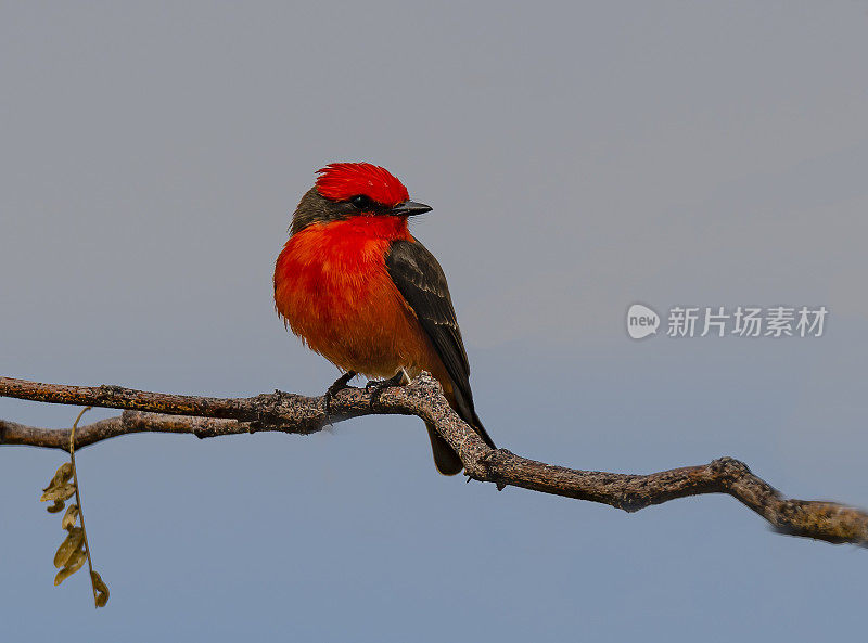
[[[340,369],[387,377],[438,361],[386,271],[384,257],[396,239],[412,240],[405,220],[359,216],[309,226],[278,257],[278,312]]]

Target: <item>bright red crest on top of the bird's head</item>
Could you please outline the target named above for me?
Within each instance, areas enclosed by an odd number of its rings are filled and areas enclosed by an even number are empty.
[[[385,206],[410,198],[404,183],[370,163],[330,163],[317,173],[317,191],[326,198],[344,201],[363,194]]]

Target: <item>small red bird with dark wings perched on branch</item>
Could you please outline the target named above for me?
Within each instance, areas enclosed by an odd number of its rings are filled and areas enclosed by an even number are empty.
[[[446,275],[407,228],[408,217],[432,208],[369,163],[332,163],[317,173],[275,266],[275,305],[304,344],[345,371],[327,395],[357,374],[386,378],[385,386],[429,371],[494,449],[473,406]],[[437,471],[460,472],[455,450],[431,426],[427,433]]]

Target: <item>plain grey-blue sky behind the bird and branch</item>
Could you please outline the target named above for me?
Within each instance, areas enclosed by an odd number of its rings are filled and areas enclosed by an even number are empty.
[[[314,170],[370,160],[434,206],[413,232],[499,445],[729,454],[868,506],[866,61],[860,1],[2,2],[0,372],[320,394],[335,370],[284,332],[271,270]],[[831,313],[821,338],[637,343],[634,301]],[[0,449],[4,640],[864,634],[861,550],[728,498],[626,515],[443,478],[405,417],[82,451],[94,614],[85,575],[51,584],[61,461]]]

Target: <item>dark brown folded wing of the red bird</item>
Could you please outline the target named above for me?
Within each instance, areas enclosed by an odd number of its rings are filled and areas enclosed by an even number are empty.
[[[473,407],[468,353],[443,268],[418,241],[394,241],[386,255],[386,269],[446,366],[452,381],[456,411],[489,447],[496,448]]]

